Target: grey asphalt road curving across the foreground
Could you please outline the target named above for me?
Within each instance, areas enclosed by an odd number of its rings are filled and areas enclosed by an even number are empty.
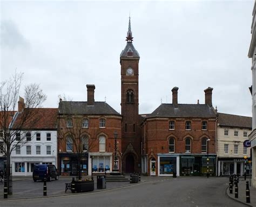
[[[87,194],[0,201],[0,206],[245,206],[226,196],[228,178],[183,177],[142,180],[145,182]]]

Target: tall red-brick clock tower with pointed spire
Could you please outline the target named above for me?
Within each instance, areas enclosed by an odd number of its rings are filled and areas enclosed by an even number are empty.
[[[131,19],[120,54],[122,108],[122,170],[140,171],[139,53],[132,44]]]

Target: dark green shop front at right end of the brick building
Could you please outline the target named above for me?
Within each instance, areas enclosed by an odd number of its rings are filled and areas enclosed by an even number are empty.
[[[216,155],[180,155],[181,176],[215,176],[215,166]]]

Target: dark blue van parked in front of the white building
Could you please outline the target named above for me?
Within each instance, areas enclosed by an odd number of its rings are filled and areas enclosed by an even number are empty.
[[[54,164],[36,164],[33,169],[33,181],[44,180],[48,181],[52,179],[59,180],[57,168]]]

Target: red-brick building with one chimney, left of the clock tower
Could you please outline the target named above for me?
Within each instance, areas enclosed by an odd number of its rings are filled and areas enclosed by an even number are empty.
[[[94,100],[95,86],[87,86],[87,101],[59,102],[58,169],[62,175],[76,175],[78,157],[82,174],[111,172],[114,164],[114,133],[121,160],[122,116],[106,102]],[[118,162],[118,169],[121,168]]]

